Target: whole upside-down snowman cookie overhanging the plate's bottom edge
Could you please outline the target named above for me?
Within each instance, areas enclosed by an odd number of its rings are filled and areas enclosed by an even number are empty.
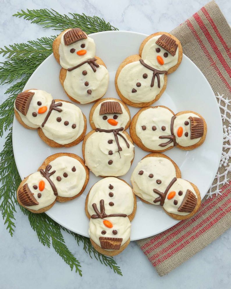
[[[127,247],[136,197],[124,180],[107,177],[94,184],[86,198],[85,212],[90,219],[90,241],[99,253],[115,256]]]

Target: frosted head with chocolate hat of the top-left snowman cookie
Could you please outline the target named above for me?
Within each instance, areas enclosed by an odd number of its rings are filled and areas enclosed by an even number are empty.
[[[80,28],[67,30],[61,36],[60,64],[67,69],[95,57],[95,42]]]

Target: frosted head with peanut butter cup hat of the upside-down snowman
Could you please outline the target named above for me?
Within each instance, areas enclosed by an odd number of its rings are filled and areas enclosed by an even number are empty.
[[[90,238],[104,250],[119,250],[131,233],[128,217],[107,217],[90,219]]]

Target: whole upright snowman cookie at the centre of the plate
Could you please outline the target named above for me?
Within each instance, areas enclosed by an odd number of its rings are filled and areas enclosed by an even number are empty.
[[[125,175],[134,158],[134,145],[124,131],[130,124],[127,106],[115,98],[104,98],[90,111],[90,131],[83,140],[83,158],[96,176]]]

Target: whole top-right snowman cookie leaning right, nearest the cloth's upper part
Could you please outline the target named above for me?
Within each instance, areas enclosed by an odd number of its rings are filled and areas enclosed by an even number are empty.
[[[167,32],[154,33],[141,43],[139,54],[127,57],[118,67],[115,88],[126,104],[145,107],[166,89],[167,74],[182,60],[180,41]]]

